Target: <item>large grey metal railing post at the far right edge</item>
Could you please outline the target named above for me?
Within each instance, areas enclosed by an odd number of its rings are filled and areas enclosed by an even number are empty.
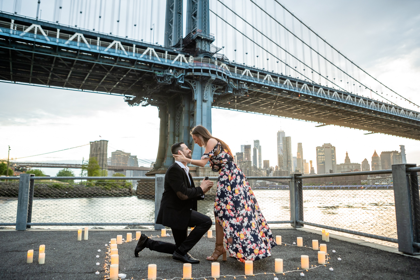
[[[410,183],[409,174],[406,173],[407,167],[415,166],[405,163],[392,165],[398,251],[410,255],[419,254],[419,249],[413,247],[413,242],[418,242],[415,229],[420,227],[414,218],[416,209],[413,205],[414,201],[418,201],[418,183],[417,186],[414,186],[413,182]]]

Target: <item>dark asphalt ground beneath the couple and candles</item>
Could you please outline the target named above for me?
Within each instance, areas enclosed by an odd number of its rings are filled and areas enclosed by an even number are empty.
[[[26,232],[0,231],[2,242],[0,243],[0,279],[64,279],[64,280],[92,280],[104,279],[105,246],[110,238],[116,238],[117,234],[126,236],[131,232],[135,236],[136,230],[89,230],[89,240],[76,241],[76,230],[50,230]],[[157,231],[142,230],[148,236],[157,236]],[[170,230],[167,231],[171,233]],[[160,233],[160,232],[159,232]],[[305,246],[311,246],[312,239],[321,242],[321,236],[307,231],[296,229],[273,229],[274,235],[281,235],[282,241],[292,244],[297,236],[301,236]],[[160,241],[174,242],[172,236],[154,238]],[[321,266],[309,271],[303,271],[305,279],[322,280],[361,280],[361,279],[418,279],[420,275],[420,259],[401,254],[383,251],[368,246],[362,246],[363,241],[354,240],[357,243],[346,242],[331,238],[327,243],[327,250],[331,259],[326,267]],[[192,256],[201,260],[199,264],[192,265],[192,277],[209,277],[211,275],[211,262],[205,260],[214,249],[215,239],[203,237],[190,251]],[[45,244],[45,264],[38,264],[39,245]],[[373,246],[374,243],[370,243]],[[140,257],[134,257],[136,241],[118,245],[119,272],[127,275],[126,279],[134,280],[147,278],[147,265],[157,264],[157,277],[171,279],[182,277],[182,263],[172,259],[169,254],[157,253],[144,249]],[[381,247],[381,246],[378,246]],[[391,247],[389,247],[391,248]],[[26,263],[26,251],[34,249],[34,262]],[[100,249],[101,252],[97,250]],[[332,253],[332,250],[336,253]],[[391,250],[392,251],[392,250]],[[95,256],[99,255],[99,258]],[[274,275],[274,262],[276,258],[283,259],[283,271],[297,270],[301,267],[300,256],[308,255],[310,266],[318,265],[317,251],[307,247],[275,246],[272,256],[254,262],[254,273],[268,274],[248,276],[248,279],[271,280]],[[341,257],[341,261],[337,258]],[[95,263],[99,262],[97,266]],[[233,258],[227,262],[220,262],[220,275],[244,275],[244,264]],[[333,267],[333,271],[329,268]],[[99,271],[99,275],[95,275]],[[270,273],[269,273],[270,272]],[[286,275],[278,274],[279,279],[304,279],[300,272],[288,272]],[[178,279],[180,279],[178,278]],[[244,276],[236,277],[243,279]],[[204,279],[204,278],[203,278]],[[234,277],[223,276],[220,279],[234,280]]]

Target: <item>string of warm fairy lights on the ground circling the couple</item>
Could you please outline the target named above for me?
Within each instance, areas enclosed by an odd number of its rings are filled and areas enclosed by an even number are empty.
[[[169,236],[172,236],[172,235],[169,235],[169,234],[166,234],[166,236],[159,236],[159,235],[157,235],[157,236],[153,236],[153,235],[150,235],[150,236],[148,236],[149,238],[161,238],[161,237],[169,237]],[[214,236],[212,237],[212,238],[215,238]],[[132,239],[133,241],[135,241],[135,240],[137,240],[136,238],[134,238],[134,239]],[[124,240],[124,238],[123,238],[123,241],[122,241],[122,244],[123,243],[128,243],[128,241],[126,241],[126,240]],[[293,243],[295,243],[295,242],[293,242]],[[122,245],[121,244],[121,245]],[[285,243],[285,242],[281,242],[281,245],[283,245],[284,244],[284,246],[297,246],[296,244],[289,244],[289,243]],[[111,247],[110,247],[110,245],[108,245],[108,244],[105,244],[105,246],[107,247],[107,251],[106,251],[106,253],[105,253],[105,264],[104,264],[104,269],[105,269],[105,276],[104,276],[104,280],[109,280],[110,279],[110,264],[111,264]],[[309,248],[309,249],[311,249],[311,250],[313,250],[312,249],[312,247],[309,247],[309,246],[306,246],[306,245],[304,245],[304,246],[302,246],[302,247],[306,247],[306,248]],[[333,251],[333,252],[335,252],[335,251]],[[326,258],[327,258],[327,260],[326,260],[326,264],[320,264],[320,265],[311,265],[311,267],[309,268],[309,269],[299,269],[299,267],[297,267],[297,269],[295,269],[295,270],[288,270],[288,271],[283,271],[282,273],[275,273],[275,272],[261,272],[261,273],[253,273],[252,275],[220,275],[220,278],[221,277],[223,277],[223,278],[227,278],[227,277],[233,277],[233,279],[236,279],[236,277],[244,277],[244,279],[246,279],[247,278],[247,276],[249,277],[249,276],[255,276],[255,275],[270,275],[270,274],[272,274],[273,276],[275,276],[276,277],[276,275],[278,275],[278,274],[281,274],[281,275],[286,275],[286,273],[291,273],[291,272],[304,272],[304,271],[309,271],[309,270],[313,270],[313,269],[315,269],[315,268],[320,268],[320,267],[326,267],[327,266],[327,264],[329,264],[330,262],[328,261],[328,260],[330,260],[331,259],[331,257],[329,256],[329,254],[326,254]],[[330,270],[332,270],[332,268],[330,268]],[[303,276],[303,275],[302,275]],[[118,278],[118,279],[121,279],[121,278]],[[184,279],[186,279],[186,278],[183,278],[183,277],[172,277],[172,278],[160,278],[160,277],[156,277],[156,279],[160,279],[160,280],[175,280],[175,279],[181,279],[181,280],[184,280]],[[192,277],[192,278],[190,278],[190,279],[204,279],[204,280],[209,280],[209,279],[214,279],[214,280],[216,280],[216,278],[213,278],[212,276],[203,276],[203,277]],[[142,278],[142,279],[134,279],[134,277],[131,277],[131,279],[130,280],[148,280],[148,278]]]

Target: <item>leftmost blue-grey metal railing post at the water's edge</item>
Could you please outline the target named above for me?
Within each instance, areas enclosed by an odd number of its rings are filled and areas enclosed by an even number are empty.
[[[16,230],[26,230],[28,220],[29,185],[32,174],[21,174],[19,179],[18,211],[16,213]]]

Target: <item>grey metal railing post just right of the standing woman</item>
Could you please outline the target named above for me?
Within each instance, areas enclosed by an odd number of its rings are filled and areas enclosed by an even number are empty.
[[[291,226],[294,228],[302,228],[303,225],[297,221],[303,221],[303,191],[302,180],[297,179],[297,176],[302,174],[290,174],[291,180],[289,182],[290,191],[290,220]]]

